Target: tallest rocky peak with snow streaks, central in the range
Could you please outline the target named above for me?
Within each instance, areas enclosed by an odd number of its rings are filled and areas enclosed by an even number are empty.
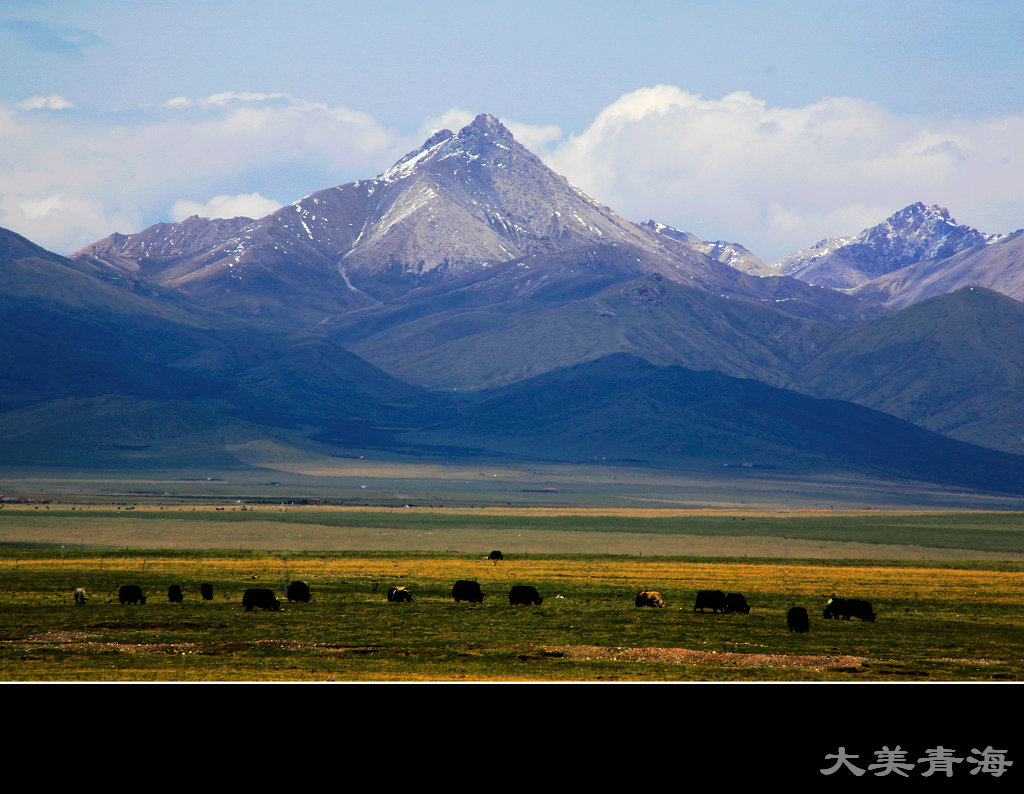
[[[347,310],[502,263],[539,275],[658,274],[716,293],[746,288],[723,264],[734,250],[709,256],[625,220],[487,114],[457,133],[434,132],[376,178],[318,191],[228,234],[206,221],[202,244],[177,246],[173,257],[159,243],[177,229],[165,226],[139,233],[153,238],[146,251],[157,255],[138,250],[137,273],[144,267],[148,281],[255,314],[286,294],[306,296],[310,311]],[[135,237],[109,238],[77,256],[108,264],[117,256],[130,268]]]

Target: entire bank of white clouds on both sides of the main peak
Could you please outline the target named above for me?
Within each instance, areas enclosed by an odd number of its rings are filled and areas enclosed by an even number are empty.
[[[65,101],[0,103],[0,226],[59,253],[191,214],[261,217],[381,173],[476,115],[452,108],[399,133],[350,108],[238,91],[111,117],[38,112]],[[742,91],[706,99],[658,85],[567,137],[504,123],[625,217],[738,242],[767,261],[914,201],[987,233],[1024,226],[1021,117],[927,120],[848,97],[773,108]]]

